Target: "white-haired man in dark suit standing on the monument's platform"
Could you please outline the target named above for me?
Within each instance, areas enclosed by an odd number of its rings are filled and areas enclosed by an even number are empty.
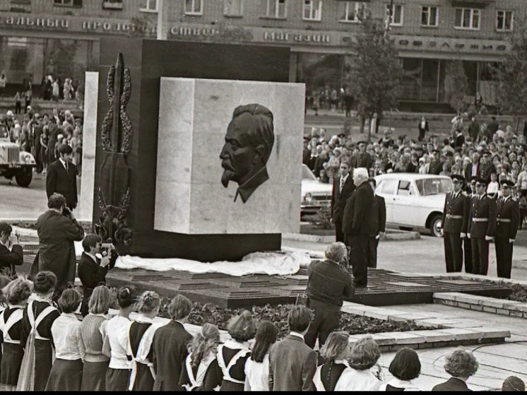
[[[355,286],[366,287],[369,232],[374,220],[374,199],[372,187],[368,184],[368,171],[364,167],[353,171],[353,183],[357,188],[346,202],[342,230],[345,235],[345,244],[351,248],[350,263],[353,266]]]

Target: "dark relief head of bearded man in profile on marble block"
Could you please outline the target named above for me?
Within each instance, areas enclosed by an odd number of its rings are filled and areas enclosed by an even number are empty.
[[[235,201],[240,196],[245,203],[269,179],[266,164],[274,141],[271,110],[259,104],[236,107],[220,153],[221,183],[225,188],[230,181],[238,184]]]

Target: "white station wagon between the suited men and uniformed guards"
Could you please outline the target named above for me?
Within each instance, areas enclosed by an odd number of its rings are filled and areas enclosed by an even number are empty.
[[[386,225],[401,229],[426,228],[440,237],[446,193],[452,179],[442,175],[390,173],[375,177],[375,193],[386,202]]]

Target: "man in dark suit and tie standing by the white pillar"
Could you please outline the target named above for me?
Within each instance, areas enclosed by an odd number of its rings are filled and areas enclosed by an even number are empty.
[[[46,193],[57,193],[66,198],[70,210],[77,207],[77,170],[71,163],[73,149],[68,144],[59,147],[60,158],[47,166]]]

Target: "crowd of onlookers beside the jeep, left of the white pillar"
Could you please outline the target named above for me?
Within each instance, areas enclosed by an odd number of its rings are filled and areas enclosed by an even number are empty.
[[[73,117],[70,110],[59,112],[56,108],[51,114],[34,112],[30,105],[27,112],[17,115],[8,110],[0,115],[4,124],[4,137],[20,146],[20,151],[33,155],[37,164],[35,171],[46,174],[47,166],[59,159],[59,148],[66,144],[71,147],[71,163],[81,174],[83,148],[83,122]]]

